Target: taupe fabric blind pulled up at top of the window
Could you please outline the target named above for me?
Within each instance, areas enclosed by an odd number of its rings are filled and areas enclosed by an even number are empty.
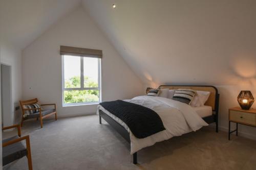
[[[102,58],[102,50],[60,45],[60,55]]]

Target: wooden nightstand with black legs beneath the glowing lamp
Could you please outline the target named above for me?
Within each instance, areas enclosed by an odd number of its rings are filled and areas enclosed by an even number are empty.
[[[238,136],[238,124],[256,127],[256,110],[243,110],[240,107],[234,107],[228,109],[228,140],[230,140],[230,134],[237,133]],[[230,122],[237,123],[237,129],[230,132]]]

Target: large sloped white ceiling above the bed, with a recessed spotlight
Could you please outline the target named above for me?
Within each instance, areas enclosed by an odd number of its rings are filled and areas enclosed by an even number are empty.
[[[256,1],[82,3],[147,84],[256,84]]]

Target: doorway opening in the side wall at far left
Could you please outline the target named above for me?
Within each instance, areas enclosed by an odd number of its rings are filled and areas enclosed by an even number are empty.
[[[6,127],[13,124],[11,66],[3,63],[1,63],[1,94],[2,127]]]

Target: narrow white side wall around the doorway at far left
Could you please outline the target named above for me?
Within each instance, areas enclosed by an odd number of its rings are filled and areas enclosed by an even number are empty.
[[[1,46],[1,63],[11,66],[11,111],[7,116],[10,119],[5,126],[19,123],[21,112],[15,111],[15,107],[19,106],[19,100],[22,96],[22,56],[21,51],[6,41]]]

